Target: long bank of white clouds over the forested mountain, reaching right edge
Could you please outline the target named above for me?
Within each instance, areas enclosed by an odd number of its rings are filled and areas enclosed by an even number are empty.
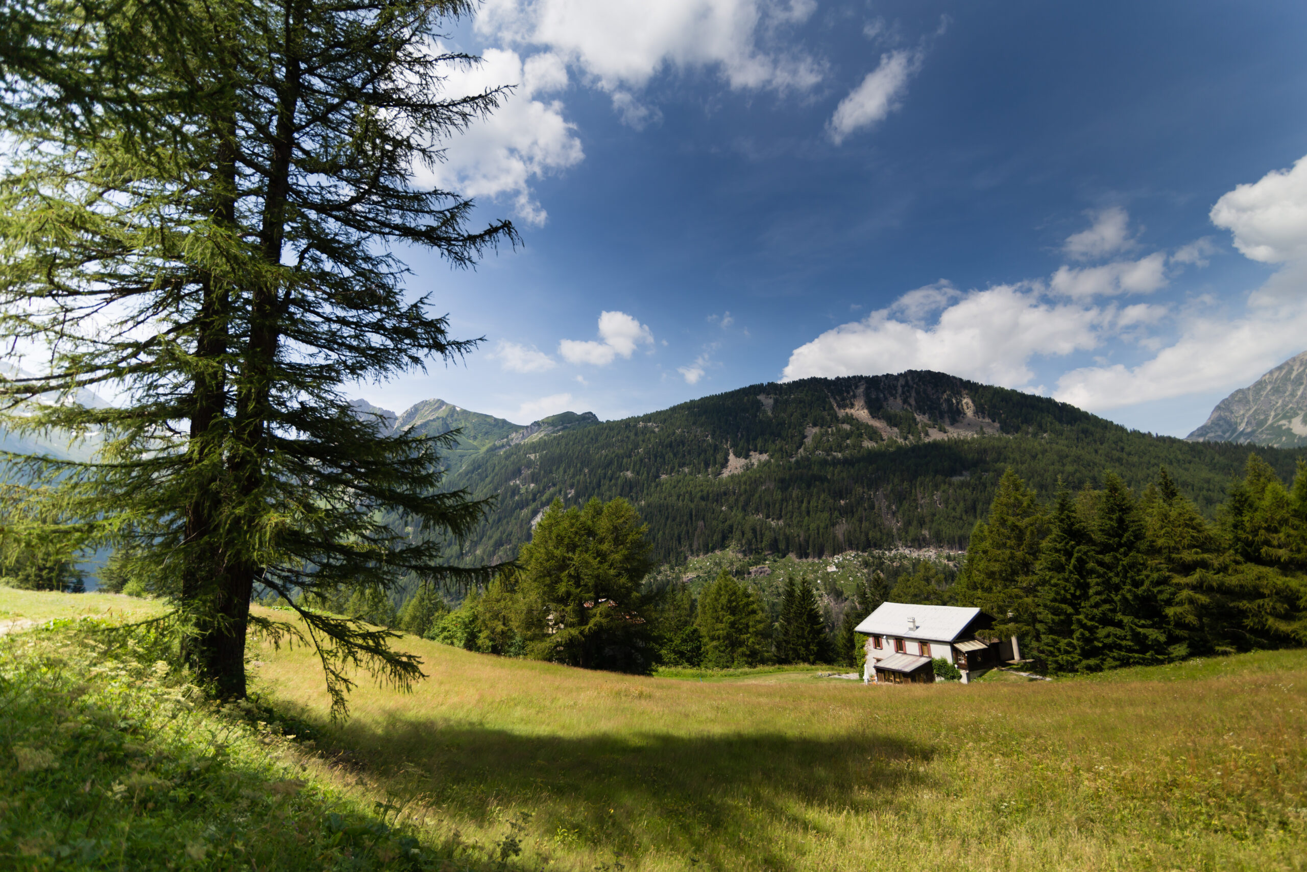
[[[1031,388],[1031,363],[1087,352],[1145,350],[1137,365],[1094,358],[1056,380],[1053,396],[1106,411],[1248,384],[1307,346],[1307,158],[1222,196],[1212,221],[1253,260],[1282,264],[1247,297],[1242,311],[1212,298],[1183,306],[1097,302],[1165,288],[1168,264],[1202,267],[1206,238],[1137,260],[1057,269],[1047,280],[961,293],[949,282],[919,288],[863,320],[826,331],[793,350],[786,380],[812,375],[874,375],[933,369],[1006,387]],[[1097,213],[1090,230],[1067,241],[1077,259],[1136,246],[1120,213]],[[1153,328],[1163,327],[1163,332]],[[1106,349],[1104,349],[1106,350]],[[1115,352],[1114,352],[1115,353]]]

